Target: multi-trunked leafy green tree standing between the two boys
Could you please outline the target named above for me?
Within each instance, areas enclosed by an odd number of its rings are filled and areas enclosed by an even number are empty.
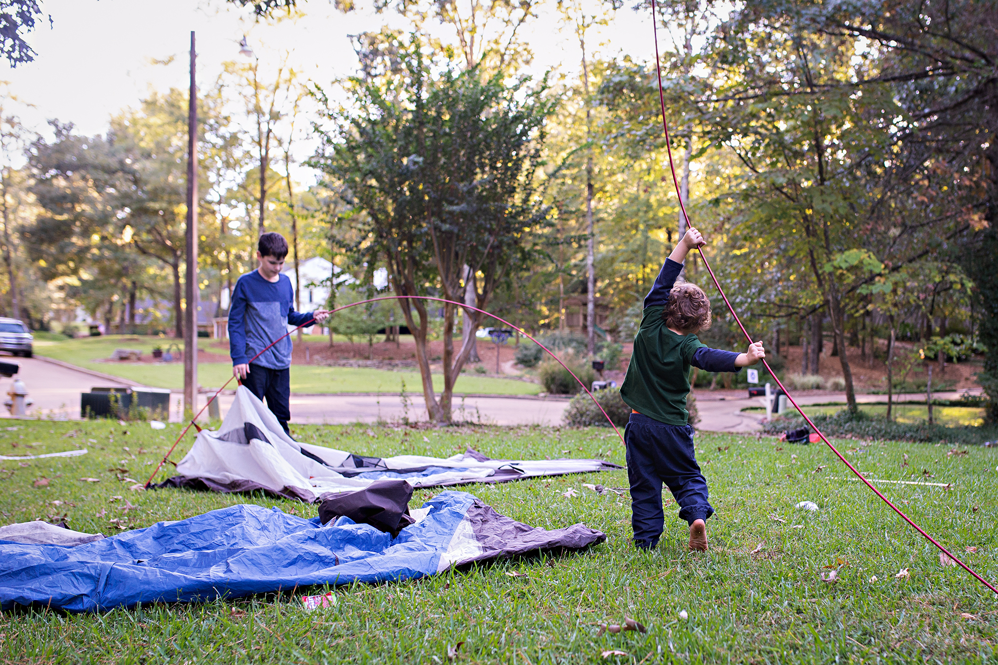
[[[468,266],[474,306],[486,309],[497,286],[540,252],[548,225],[541,150],[554,112],[547,80],[477,68],[460,71],[425,55],[419,36],[387,32],[358,40],[362,74],[345,84],[347,105],[331,108],[313,160],[350,207],[347,224],[359,262],[381,265],[398,296],[465,300]],[[455,307],[444,305],[439,398],[430,376],[430,317],[436,303],[402,301],[416,343],[430,418],[451,419],[451,395],[471,350],[454,348]],[[469,313],[472,332],[483,315]]]

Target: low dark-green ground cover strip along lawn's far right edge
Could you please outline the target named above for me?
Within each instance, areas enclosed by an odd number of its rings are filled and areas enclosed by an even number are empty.
[[[865,411],[850,413],[844,408],[830,415],[814,415],[811,420],[828,436],[965,445],[980,445],[986,440],[998,437],[998,428],[994,427],[946,427],[940,424],[930,425],[924,420],[912,423],[894,422],[882,415],[872,415]],[[787,429],[806,426],[807,423],[800,417],[773,418],[763,423],[762,431],[767,434],[779,434]]]

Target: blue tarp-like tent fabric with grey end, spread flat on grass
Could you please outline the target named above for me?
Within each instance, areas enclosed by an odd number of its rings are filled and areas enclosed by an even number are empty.
[[[606,539],[584,524],[533,528],[466,492],[444,491],[411,512],[416,523],[394,538],[347,517],[321,526],[318,518],[244,504],[75,547],[0,541],[0,609],[87,612],[405,580]]]

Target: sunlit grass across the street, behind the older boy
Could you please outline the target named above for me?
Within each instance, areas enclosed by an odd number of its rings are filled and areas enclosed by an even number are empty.
[[[199,349],[218,353],[219,348],[209,346],[210,341],[212,340],[201,339],[198,344]],[[64,362],[72,362],[88,369],[129,378],[146,385],[169,388],[184,387],[183,362],[137,364],[96,361],[98,358],[111,357],[114,349],[119,347],[138,348],[148,355],[156,344],[166,346],[164,340],[158,337],[112,334],[58,342],[36,342],[35,352]],[[233,367],[228,362],[198,363],[198,382],[206,387],[219,387],[232,375]],[[419,371],[302,364],[291,367],[291,392],[398,392],[402,387],[403,380],[407,391],[422,391],[422,379],[419,376]],[[433,386],[438,391],[443,389],[442,374],[434,374]],[[473,394],[537,394],[542,389],[543,386],[538,383],[509,378],[476,376],[472,373],[461,375],[455,386],[455,392]]]

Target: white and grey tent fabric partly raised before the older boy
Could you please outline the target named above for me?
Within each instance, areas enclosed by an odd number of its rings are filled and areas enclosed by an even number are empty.
[[[468,450],[451,457],[367,457],[300,443],[284,433],[273,413],[241,385],[218,431],[203,429],[160,486],[223,492],[261,489],[306,502],[322,494],[362,489],[401,478],[413,487],[502,482],[539,475],[621,468],[602,459],[489,459]]]

